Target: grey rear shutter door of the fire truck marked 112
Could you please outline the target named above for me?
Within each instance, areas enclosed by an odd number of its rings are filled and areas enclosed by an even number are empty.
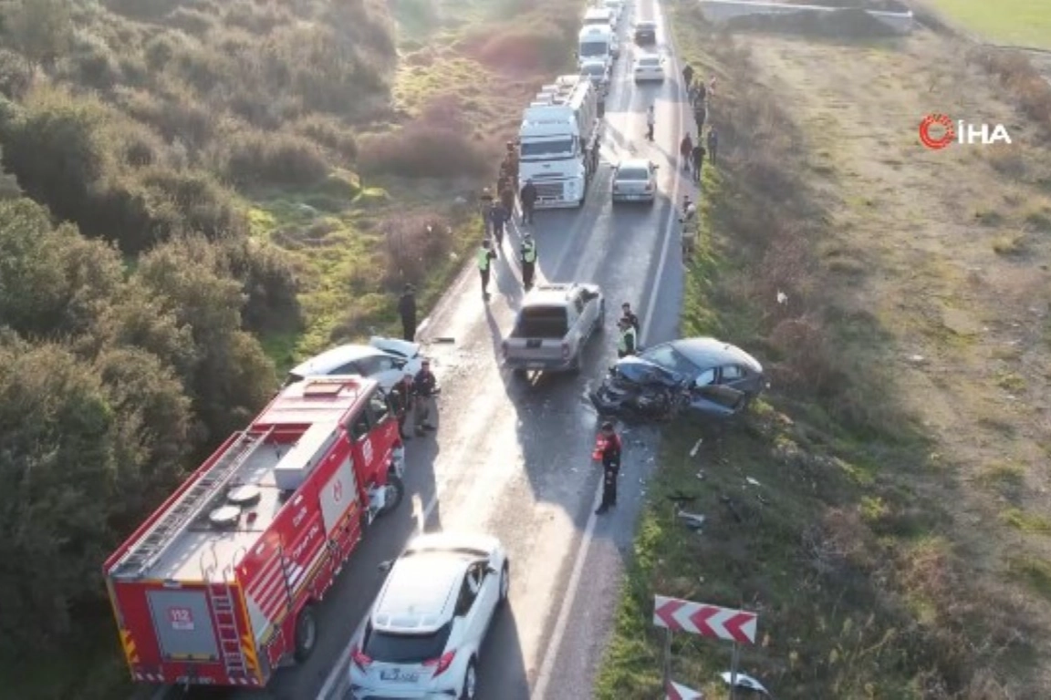
[[[165,660],[219,658],[208,598],[198,591],[147,591],[157,643]]]

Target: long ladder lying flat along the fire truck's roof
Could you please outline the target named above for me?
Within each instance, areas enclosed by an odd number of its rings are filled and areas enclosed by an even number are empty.
[[[191,522],[223,486],[228,484],[238,469],[248,461],[255,448],[265,443],[273,433],[243,431],[211,468],[208,469],[172,508],[153,524],[142,539],[121,557],[115,567],[115,575],[138,577],[149,570],[164,553],[183,526]]]

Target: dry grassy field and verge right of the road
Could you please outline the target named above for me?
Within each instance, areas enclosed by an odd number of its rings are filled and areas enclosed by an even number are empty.
[[[778,698],[1047,697],[1051,152],[915,136],[931,101],[1039,133],[1046,84],[927,33],[730,40],[669,13],[720,86],[683,334],[755,352],[774,389],[665,434],[597,697],[660,694],[655,594],[758,611],[742,671]],[[725,643],[673,651],[676,681],[727,697]]]

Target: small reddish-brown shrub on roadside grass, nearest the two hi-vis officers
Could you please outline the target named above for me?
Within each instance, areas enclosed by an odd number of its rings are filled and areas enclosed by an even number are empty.
[[[436,260],[445,260],[453,241],[449,221],[438,216],[399,215],[383,221],[384,283],[392,290],[414,284],[433,272]]]

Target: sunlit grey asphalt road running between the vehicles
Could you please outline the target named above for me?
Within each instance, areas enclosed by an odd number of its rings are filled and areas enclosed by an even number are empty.
[[[633,19],[661,21],[655,0],[635,2],[624,30]],[[632,302],[641,317],[643,345],[677,337],[682,263],[675,203],[686,193],[696,196],[674,155],[685,108],[665,36],[661,22],[659,50],[669,60],[660,85],[634,84],[636,49],[630,41],[622,44],[606,100],[604,164],[585,205],[540,211],[530,227],[539,253],[538,281],[594,282],[605,293],[606,327],[590,343],[582,372],[521,379],[499,366],[502,334],[522,297],[516,226],[495,263],[491,301],[483,302],[472,264],[420,332],[442,395],[437,432],[408,443],[406,500],[374,524],[326,596],[317,648],[308,662],[279,672],[265,692],[236,693],[236,700],[345,698],[347,645],[382,584],[377,565],[396,556],[420,527],[490,532],[510,553],[511,606],[490,631],[478,697],[591,697],[656,438],[644,428],[623,431],[618,507],[594,516],[601,469],[591,462],[598,426],[586,393],[616,359],[621,302]],[[651,104],[657,111],[654,144],[644,137]],[[660,165],[658,200],[653,207],[614,208],[610,163],[633,155]]]

